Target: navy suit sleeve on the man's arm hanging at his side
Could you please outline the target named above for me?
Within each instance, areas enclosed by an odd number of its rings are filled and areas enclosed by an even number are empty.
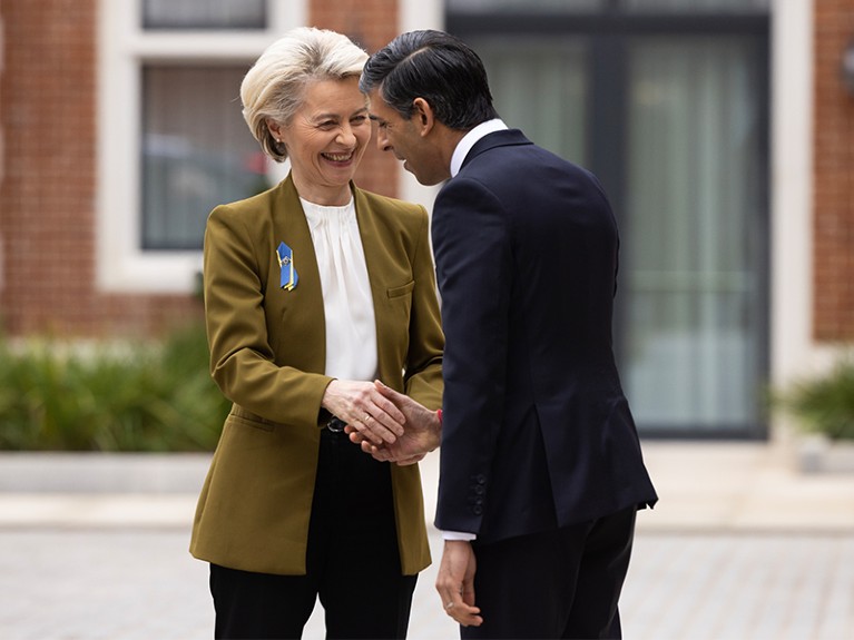
[[[511,234],[499,199],[478,181],[452,179],[436,198],[433,246],[445,333],[435,524],[478,533],[502,425],[514,286]]]

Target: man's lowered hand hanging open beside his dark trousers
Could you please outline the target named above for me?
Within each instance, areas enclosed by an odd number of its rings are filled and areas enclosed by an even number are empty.
[[[463,627],[480,627],[483,618],[474,607],[477,560],[471,542],[445,540],[435,588],[445,613]]]

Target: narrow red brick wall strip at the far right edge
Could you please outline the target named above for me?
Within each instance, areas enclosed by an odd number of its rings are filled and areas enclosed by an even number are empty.
[[[815,0],[814,337],[854,339],[854,95],[840,76],[854,1]]]

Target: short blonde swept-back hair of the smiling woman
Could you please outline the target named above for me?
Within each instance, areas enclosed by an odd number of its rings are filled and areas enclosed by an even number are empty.
[[[268,119],[289,124],[310,82],[359,77],[366,60],[367,53],[346,36],[314,27],[293,29],[267,47],[241,83],[243,118],[264,152],[277,163],[287,158]]]

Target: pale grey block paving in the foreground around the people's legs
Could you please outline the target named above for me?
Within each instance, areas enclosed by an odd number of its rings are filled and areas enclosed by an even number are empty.
[[[0,638],[212,638],[207,568],[186,544],[185,531],[1,531]],[[433,579],[419,581],[412,640],[458,637]],[[627,639],[854,638],[854,540],[641,533],[621,609]],[[321,616],[304,638],[323,638]]]

